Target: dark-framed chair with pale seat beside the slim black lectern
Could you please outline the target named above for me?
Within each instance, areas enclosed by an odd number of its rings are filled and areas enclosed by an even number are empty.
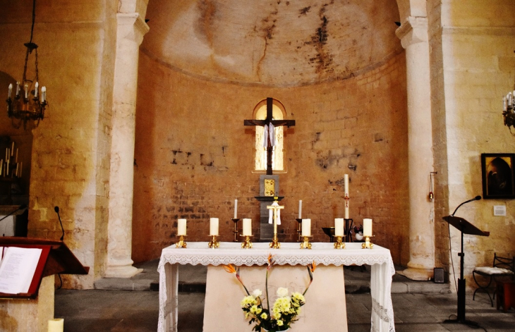
[[[492,284],[492,281],[495,281],[496,278],[507,278],[511,277],[511,280],[514,280],[515,276],[515,257],[513,258],[506,258],[506,257],[499,257],[497,256],[497,253],[494,253],[494,264],[492,266],[476,266],[474,268],[474,271],[472,271],[472,276],[474,278],[475,284],[478,285],[478,288],[474,290],[474,294],[472,296],[472,300],[475,300],[475,293],[478,292],[478,290],[482,290],[483,292],[487,293],[488,297],[490,298],[490,303],[492,304],[492,307],[494,306],[494,301],[492,300],[492,296],[490,296],[490,292],[488,288],[490,288],[490,285]],[[476,276],[483,276],[484,278],[487,278],[487,281],[480,281],[478,282],[478,279]],[[493,290],[493,299],[495,299],[495,289]]]

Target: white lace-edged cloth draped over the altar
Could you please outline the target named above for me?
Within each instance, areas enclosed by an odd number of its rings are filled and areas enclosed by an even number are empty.
[[[322,265],[371,266],[370,295],[372,296],[372,332],[393,332],[394,309],[392,307],[392,276],[395,274],[390,251],[374,245],[373,249],[361,249],[361,243],[346,243],[345,249],[335,250],[333,243],[315,242],[312,250],[301,250],[299,243],[283,242],[281,249],[269,249],[268,243],[257,242],[252,249],[241,249],[238,242],[221,242],[211,249],[207,242],[188,242],[188,248],[175,245],[162,250],[159,260],[159,322],[157,331],[177,331],[178,264],[238,266],[265,265],[269,253],[279,265],[308,265],[313,261]],[[316,278],[316,271],[315,271]],[[241,299],[237,299],[241,300]]]

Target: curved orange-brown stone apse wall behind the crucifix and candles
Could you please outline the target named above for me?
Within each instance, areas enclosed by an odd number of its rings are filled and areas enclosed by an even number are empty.
[[[296,126],[286,130],[280,173],[280,241],[296,240],[298,200],[312,219],[313,241],[344,214],[344,174],[351,178],[351,218],[374,220],[374,241],[408,259],[406,70],[404,53],[356,78],[307,87],[253,87],[199,80],[140,54],[136,112],[133,260],[159,257],[176,241],[178,218],[190,241],[206,241],[210,217],[230,241],[238,217],[259,235],[259,174],[254,106],[274,97]],[[355,165],[356,171],[349,169]]]

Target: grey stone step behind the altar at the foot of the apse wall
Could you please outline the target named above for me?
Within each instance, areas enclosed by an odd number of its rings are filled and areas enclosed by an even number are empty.
[[[95,289],[101,290],[159,290],[159,259],[143,264],[135,264],[142,273],[132,278],[103,278],[95,281]],[[404,269],[396,266],[396,269]],[[178,291],[181,293],[205,293],[207,266],[179,266]],[[370,266],[345,266],[345,293],[370,293]],[[449,283],[432,281],[411,281],[395,274],[392,280],[392,293],[446,294],[451,293]]]

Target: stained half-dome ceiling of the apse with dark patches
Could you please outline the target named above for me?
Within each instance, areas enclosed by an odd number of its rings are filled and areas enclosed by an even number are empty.
[[[205,80],[344,80],[402,51],[395,0],[150,0],[141,51]]]

